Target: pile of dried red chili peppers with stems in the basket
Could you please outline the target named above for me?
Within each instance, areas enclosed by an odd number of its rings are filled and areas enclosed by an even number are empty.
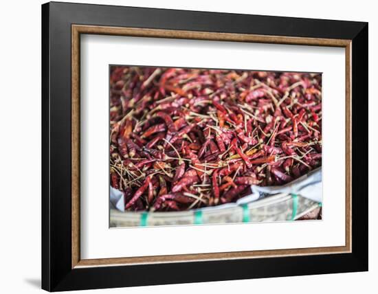
[[[322,164],[322,79],[111,67],[110,179],[130,211],[234,202]]]

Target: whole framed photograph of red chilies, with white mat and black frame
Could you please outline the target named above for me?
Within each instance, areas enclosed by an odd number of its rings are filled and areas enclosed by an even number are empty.
[[[42,5],[42,287],[368,270],[368,23]]]

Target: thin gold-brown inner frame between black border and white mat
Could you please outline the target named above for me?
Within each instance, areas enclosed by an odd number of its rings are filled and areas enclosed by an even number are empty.
[[[346,65],[346,205],[345,246],[278,249],[259,251],[235,251],[220,253],[194,253],[169,256],[141,256],[129,258],[80,258],[80,34],[115,36],[141,36],[150,38],[181,38],[207,41],[234,41],[250,43],[274,43],[287,45],[313,45],[345,48]],[[263,36],[254,34],[230,34],[219,32],[192,32],[183,30],[158,30],[131,27],[106,27],[95,25],[71,25],[71,267],[96,267],[112,265],[151,264],[166,262],[193,262],[204,260],[232,260],[269,258],[278,256],[304,256],[314,254],[350,253],[352,249],[352,117],[351,117],[351,40],[326,38],[301,38],[287,36]]]

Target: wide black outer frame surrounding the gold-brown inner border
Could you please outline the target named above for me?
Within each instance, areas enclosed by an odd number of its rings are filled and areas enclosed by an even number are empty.
[[[352,252],[71,267],[71,25],[352,41]],[[42,5],[42,288],[210,282],[368,270],[368,23],[51,2]]]

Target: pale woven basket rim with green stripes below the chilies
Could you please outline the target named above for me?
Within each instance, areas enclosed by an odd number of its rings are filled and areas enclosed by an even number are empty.
[[[184,212],[120,212],[111,209],[111,227],[252,223],[296,220],[320,203],[296,194],[276,194],[251,203],[227,203]]]

